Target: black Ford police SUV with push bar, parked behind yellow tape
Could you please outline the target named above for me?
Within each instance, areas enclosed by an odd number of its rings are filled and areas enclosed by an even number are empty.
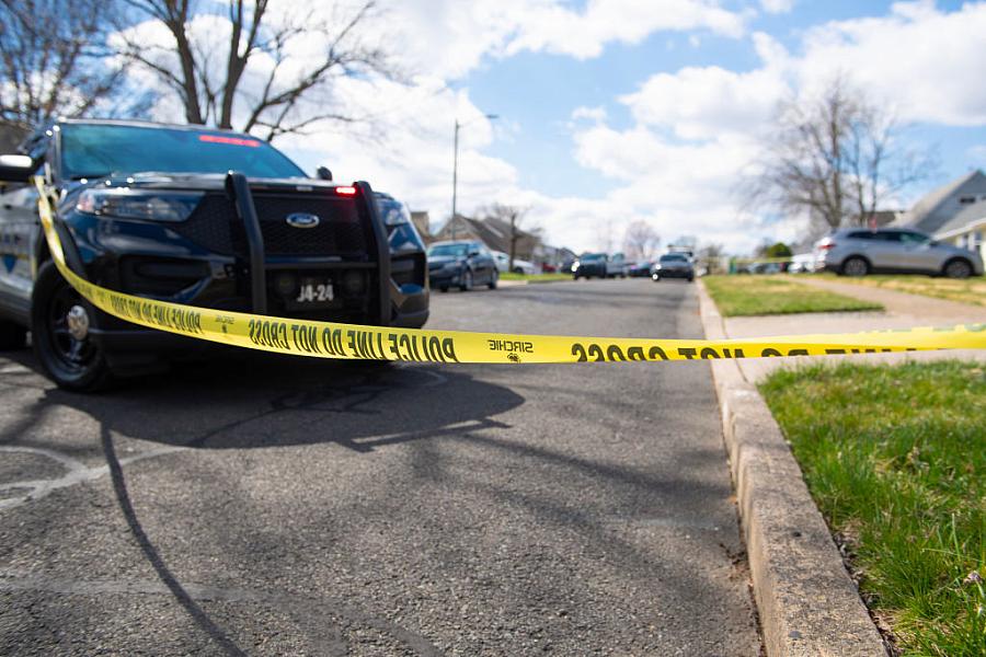
[[[37,215],[56,199],[68,265],[130,295],[231,311],[421,327],[424,245],[367,183],[310,178],[271,145],[202,126],[58,120],[0,155],[0,349],[25,331],[60,385],[99,388],[204,344],[95,310],[50,262]]]

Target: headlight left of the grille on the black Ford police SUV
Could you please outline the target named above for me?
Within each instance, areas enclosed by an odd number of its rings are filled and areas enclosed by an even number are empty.
[[[200,193],[135,192],[133,189],[87,189],[76,209],[100,217],[184,221],[195,211]]]

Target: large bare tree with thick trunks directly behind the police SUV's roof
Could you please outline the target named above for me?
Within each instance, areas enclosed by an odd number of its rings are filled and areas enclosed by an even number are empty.
[[[163,25],[172,43],[151,47],[139,28],[124,30],[123,54],[177,94],[191,124],[262,131],[271,140],[319,123],[352,123],[359,117],[333,96],[339,80],[398,74],[364,37],[374,0],[352,11],[326,2],[316,12],[302,3],[226,0],[225,14],[197,13],[195,0],[125,1],[138,20]],[[228,42],[194,30],[198,18],[228,21]],[[311,44],[319,44],[316,56]]]

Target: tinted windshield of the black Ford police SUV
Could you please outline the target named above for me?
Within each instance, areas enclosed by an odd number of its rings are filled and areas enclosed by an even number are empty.
[[[303,177],[266,141],[210,130],[66,124],[61,172],[67,178],[111,173],[226,173],[249,177]]]

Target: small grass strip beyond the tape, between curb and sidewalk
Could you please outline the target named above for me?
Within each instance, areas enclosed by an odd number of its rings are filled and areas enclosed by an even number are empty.
[[[798,283],[792,276],[706,276],[706,288],[724,316],[882,310],[860,301]]]

